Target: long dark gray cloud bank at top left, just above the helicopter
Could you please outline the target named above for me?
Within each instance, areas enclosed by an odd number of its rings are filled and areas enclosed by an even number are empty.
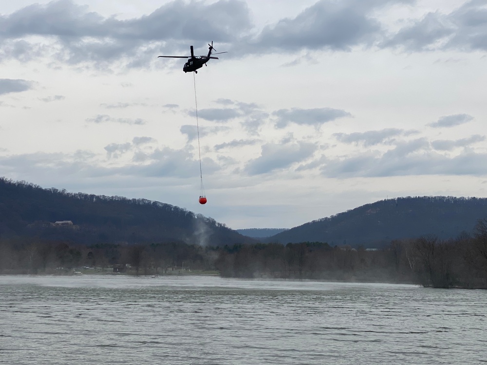
[[[0,17],[0,57],[19,60],[50,55],[69,64],[90,62],[145,67],[154,54],[188,52],[189,40],[232,42],[251,28],[244,1],[171,1],[139,18],[103,17],[71,0],[26,6]],[[44,38],[44,39],[42,39]],[[45,40],[49,39],[49,42]]]

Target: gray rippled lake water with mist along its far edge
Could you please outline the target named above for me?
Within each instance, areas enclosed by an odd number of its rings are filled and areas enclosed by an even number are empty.
[[[487,291],[0,276],[0,364],[478,364]]]

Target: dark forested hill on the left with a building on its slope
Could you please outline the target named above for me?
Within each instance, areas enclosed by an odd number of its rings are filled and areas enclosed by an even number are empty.
[[[5,178],[0,178],[0,236],[81,244],[184,241],[220,246],[252,241],[214,219],[170,204],[43,189]]]

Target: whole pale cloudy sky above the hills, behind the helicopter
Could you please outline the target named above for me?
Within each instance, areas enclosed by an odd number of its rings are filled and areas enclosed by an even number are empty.
[[[486,66],[487,0],[1,1],[0,176],[233,229],[487,197]]]

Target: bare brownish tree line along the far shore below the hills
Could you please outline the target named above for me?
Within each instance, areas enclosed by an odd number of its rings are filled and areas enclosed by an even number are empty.
[[[0,237],[0,274],[69,273],[80,267],[130,264],[134,274],[181,266],[222,277],[416,283],[487,289],[487,219],[473,235],[393,240],[382,249],[322,242],[201,246],[182,241],[79,245],[62,240]]]

